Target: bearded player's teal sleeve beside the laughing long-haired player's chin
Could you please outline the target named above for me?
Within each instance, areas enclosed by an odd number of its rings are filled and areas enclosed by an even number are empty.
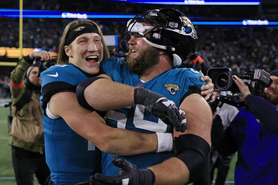
[[[127,75],[125,61],[117,57],[106,58],[100,63],[100,69],[115,82],[121,82]]]

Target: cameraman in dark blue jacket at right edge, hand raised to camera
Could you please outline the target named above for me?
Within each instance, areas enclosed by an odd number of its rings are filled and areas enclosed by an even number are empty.
[[[276,184],[278,177],[278,70],[264,89],[264,99],[251,95],[242,79],[234,76],[249,110],[239,113],[224,130],[219,115],[213,119],[212,144],[223,156],[238,152],[235,184]]]

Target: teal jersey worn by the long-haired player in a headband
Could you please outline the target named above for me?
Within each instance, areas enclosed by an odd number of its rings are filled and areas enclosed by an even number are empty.
[[[87,77],[92,75],[73,64],[55,65],[43,71],[41,104],[44,111],[52,95],[75,92],[76,86]],[[61,117],[51,119],[44,112],[43,129],[46,163],[55,184],[86,182],[100,169],[101,151],[74,132]]]

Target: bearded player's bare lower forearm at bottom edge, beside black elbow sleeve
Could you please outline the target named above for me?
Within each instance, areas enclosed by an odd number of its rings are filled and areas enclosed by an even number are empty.
[[[189,180],[189,170],[178,158],[170,158],[161,164],[149,167],[156,176],[155,185],[180,185]]]

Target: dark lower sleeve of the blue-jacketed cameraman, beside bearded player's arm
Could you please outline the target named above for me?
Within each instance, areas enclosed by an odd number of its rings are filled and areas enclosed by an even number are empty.
[[[217,115],[211,127],[211,143],[222,156],[230,156],[237,151],[237,143],[230,127],[224,129],[222,119]]]

